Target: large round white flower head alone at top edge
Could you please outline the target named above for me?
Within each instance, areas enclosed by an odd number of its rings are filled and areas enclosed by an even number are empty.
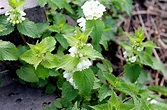
[[[94,0],[86,1],[81,8],[87,20],[101,18],[103,12],[106,11],[104,5],[100,4],[99,1]]]

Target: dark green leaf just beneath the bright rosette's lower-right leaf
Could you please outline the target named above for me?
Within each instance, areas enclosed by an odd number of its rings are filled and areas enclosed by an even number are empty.
[[[47,68],[44,68],[43,66],[39,65],[37,69],[35,70],[35,74],[38,78],[46,79],[49,77],[49,70]]]

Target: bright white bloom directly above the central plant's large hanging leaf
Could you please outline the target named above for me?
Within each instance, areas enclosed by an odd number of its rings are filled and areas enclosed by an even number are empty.
[[[92,65],[92,62],[89,59],[82,60],[81,62],[78,63],[77,69],[79,71],[82,71],[84,69],[89,68],[89,66],[91,66],[91,65]]]

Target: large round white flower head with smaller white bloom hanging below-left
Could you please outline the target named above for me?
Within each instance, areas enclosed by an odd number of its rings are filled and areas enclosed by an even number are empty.
[[[81,17],[77,20],[78,25],[81,27],[82,31],[86,29],[86,20],[96,20],[103,16],[103,12],[106,11],[105,6],[102,5],[99,1],[89,0],[84,3],[81,7],[84,17]]]

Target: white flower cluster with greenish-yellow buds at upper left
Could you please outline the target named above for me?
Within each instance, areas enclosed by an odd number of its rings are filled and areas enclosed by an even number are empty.
[[[5,16],[8,16],[7,21],[12,25],[22,23],[25,20],[26,13],[19,9],[11,9],[5,13]]]

